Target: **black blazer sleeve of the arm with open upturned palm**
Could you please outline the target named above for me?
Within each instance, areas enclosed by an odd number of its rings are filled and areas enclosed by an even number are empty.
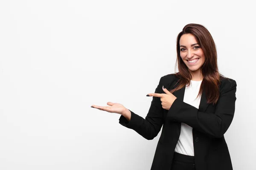
[[[163,77],[160,78],[159,85],[155,89],[154,93],[161,93],[162,86]],[[160,98],[153,96],[151,106],[145,119],[131,111],[131,120],[128,121],[124,116],[121,115],[119,118],[119,123],[127,128],[135,130],[145,139],[154,139],[154,137],[156,137],[160,132],[163,125],[163,108]]]

